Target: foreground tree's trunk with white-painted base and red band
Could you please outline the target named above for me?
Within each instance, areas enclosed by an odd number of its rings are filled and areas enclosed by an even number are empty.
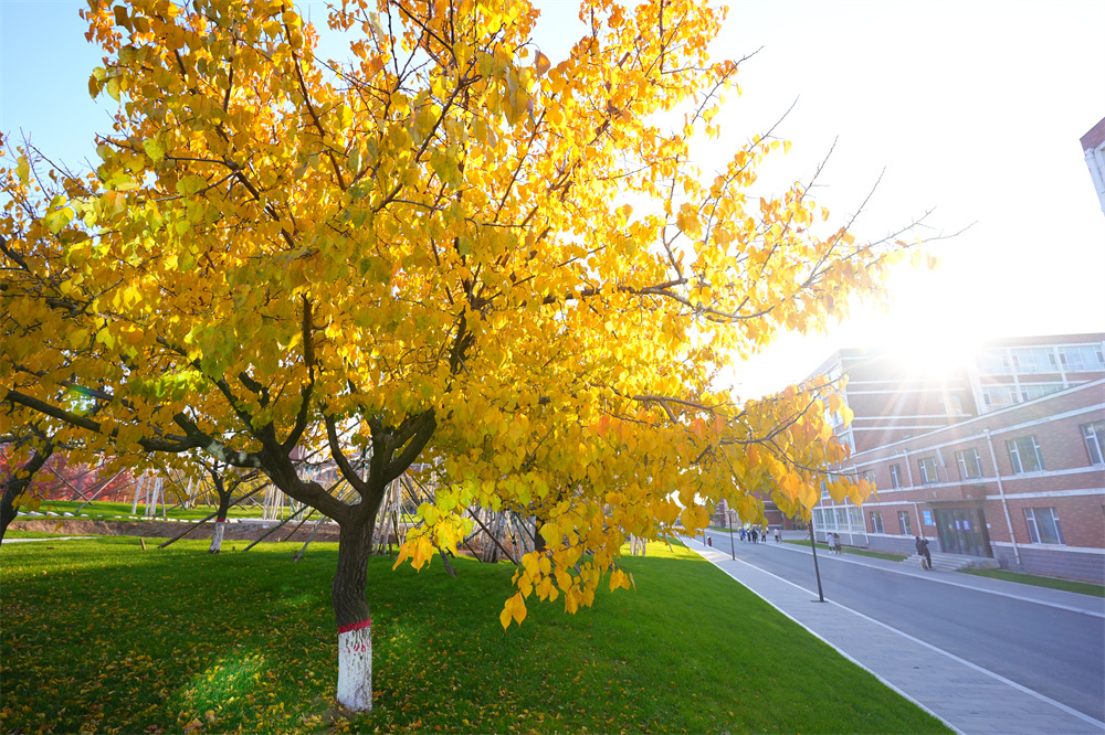
[[[360,519],[341,525],[332,598],[338,624],[338,704],[372,710],[372,620],[365,590],[373,524]]]

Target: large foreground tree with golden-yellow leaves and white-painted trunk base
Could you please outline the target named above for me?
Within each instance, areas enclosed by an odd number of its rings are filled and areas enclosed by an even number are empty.
[[[906,247],[830,226],[801,184],[757,199],[770,136],[694,164],[737,73],[706,54],[723,10],[582,0],[555,66],[523,0],[343,2],[344,65],[280,2],[86,17],[119,111],[94,175],[8,157],[2,400],[120,461],[259,469],[336,520],[344,706],[371,709],[366,564],[415,462],[440,489],[400,561],[454,551],[473,505],[537,518],[504,627],[630,586],[630,534],[693,532],[719,498],[755,518],[759,491],[793,513],[869,490],[822,469],[846,455],[823,385],[714,386]],[[354,502],[297,473],[317,449]]]

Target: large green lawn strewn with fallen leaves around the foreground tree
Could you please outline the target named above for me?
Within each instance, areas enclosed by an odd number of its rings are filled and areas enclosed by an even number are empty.
[[[369,565],[376,709],[334,710],[334,544],[223,554],[135,539],[6,545],[2,732],[947,732],[687,550],[635,590],[498,622],[514,567]],[[297,546],[296,546],[297,547]],[[232,551],[235,550],[236,551]]]

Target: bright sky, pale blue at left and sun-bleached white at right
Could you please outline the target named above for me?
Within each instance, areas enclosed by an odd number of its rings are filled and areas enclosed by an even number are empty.
[[[304,3],[298,3],[301,7]],[[323,6],[312,2],[316,22]],[[537,40],[554,63],[582,32],[548,0]],[[69,163],[94,158],[107,108],[87,93],[101,53],[74,0],[0,0],[0,129],[31,132]],[[894,308],[857,308],[830,334],[781,340],[735,375],[753,397],[804,377],[834,350],[945,352],[972,340],[1105,331],[1105,214],[1078,145],[1105,117],[1105,2],[736,1],[717,56],[745,62],[718,118],[736,146],[793,141],[762,171],[807,180],[833,141],[818,198],[855,211],[885,169],[857,234],[881,237],[934,210],[936,271],[903,270]],[[337,53],[337,52],[333,52]],[[726,141],[723,141],[726,142]]]

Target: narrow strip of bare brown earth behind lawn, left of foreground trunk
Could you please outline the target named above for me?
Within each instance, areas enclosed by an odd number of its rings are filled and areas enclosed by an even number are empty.
[[[265,528],[261,523],[228,523],[223,531],[224,541],[256,541],[272,530],[278,521],[273,521]],[[168,521],[93,521],[88,519],[29,519],[12,521],[9,529],[19,531],[36,531],[39,533],[64,533],[73,536],[145,536],[147,539],[172,539],[183,533],[189,523],[171,523]],[[273,532],[265,541],[298,541],[304,542],[315,529],[315,522],[308,521],[294,534],[292,530],[298,521],[285,524]],[[214,533],[214,523],[204,523],[189,533],[186,539],[210,539]],[[337,541],[340,530],[336,524],[324,523],[315,541]]]

